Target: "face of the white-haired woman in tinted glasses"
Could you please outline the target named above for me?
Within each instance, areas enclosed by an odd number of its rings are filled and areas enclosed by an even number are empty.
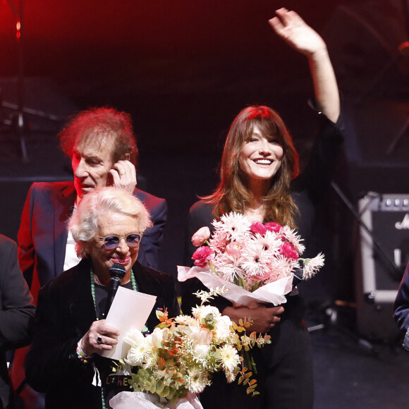
[[[128,247],[126,237],[138,231],[138,220],[133,216],[117,212],[105,212],[98,216],[98,229],[95,237],[85,244],[87,255],[92,260],[94,274],[102,282],[109,281],[109,269],[114,263],[123,264],[126,269],[124,281],[130,276],[130,269],[138,257],[139,245]],[[118,236],[118,246],[108,249],[104,246],[104,238]]]

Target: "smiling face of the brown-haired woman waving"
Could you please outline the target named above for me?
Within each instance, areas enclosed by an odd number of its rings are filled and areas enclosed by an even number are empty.
[[[241,148],[240,168],[250,184],[270,181],[279,171],[282,159],[283,147],[274,138],[264,137],[255,126]]]

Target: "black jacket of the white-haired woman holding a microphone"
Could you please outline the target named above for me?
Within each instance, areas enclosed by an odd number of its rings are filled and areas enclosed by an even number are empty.
[[[167,307],[169,317],[179,314],[175,283],[169,274],[147,269],[138,262],[133,271],[139,290],[157,295],[147,321],[148,329],[153,331],[159,324],[155,313],[158,307]],[[47,409],[101,408],[101,389],[92,385],[92,366],[81,362],[75,352],[78,341],[96,319],[89,260],[64,271],[39,291],[26,377],[33,389],[46,393]],[[96,355],[94,362],[103,373],[111,360]]]

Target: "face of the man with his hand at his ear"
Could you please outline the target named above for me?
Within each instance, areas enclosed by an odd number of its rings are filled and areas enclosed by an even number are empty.
[[[112,150],[114,141],[109,138],[80,140],[73,148],[71,165],[74,172],[74,186],[80,199],[95,188],[109,184],[109,171],[114,165]]]

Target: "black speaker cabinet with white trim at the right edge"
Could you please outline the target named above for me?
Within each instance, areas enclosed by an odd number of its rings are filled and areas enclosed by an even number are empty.
[[[390,340],[403,271],[409,260],[409,195],[367,193],[358,201],[362,226],[358,234],[355,281],[358,331],[370,338]]]

